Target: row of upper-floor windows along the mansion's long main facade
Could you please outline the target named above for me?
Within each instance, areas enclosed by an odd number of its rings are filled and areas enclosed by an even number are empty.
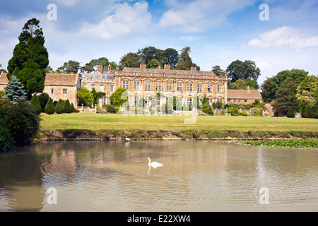
[[[193,92],[194,91],[194,84],[188,83],[187,84],[187,92]],[[129,90],[129,81],[123,81],[122,82],[122,88]],[[161,91],[162,89],[162,83],[156,82],[155,83],[155,90]],[[208,93],[213,93],[213,85],[208,84]],[[140,82],[134,81],[134,90],[140,90]],[[151,82],[145,81],[145,88],[144,90],[151,90]],[[172,91],[172,83],[166,83],[166,91]],[[182,92],[182,83],[177,83],[177,92]],[[196,92],[203,93],[203,84],[199,83],[196,84]],[[217,85],[216,93],[223,93],[223,85]]]

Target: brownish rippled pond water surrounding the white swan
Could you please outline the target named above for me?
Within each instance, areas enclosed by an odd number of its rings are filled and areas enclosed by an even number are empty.
[[[37,143],[0,154],[0,211],[317,211],[317,162],[213,141]]]

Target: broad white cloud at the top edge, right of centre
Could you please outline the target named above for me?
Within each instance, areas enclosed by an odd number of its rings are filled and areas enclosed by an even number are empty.
[[[236,0],[166,1],[170,10],[163,13],[159,24],[178,31],[200,32],[221,25],[230,13],[253,3],[253,0],[242,0],[239,4]]]

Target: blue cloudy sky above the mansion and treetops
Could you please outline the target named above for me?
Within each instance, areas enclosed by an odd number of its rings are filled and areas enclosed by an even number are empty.
[[[191,47],[201,71],[214,65],[226,69],[237,59],[255,61],[260,85],[285,69],[318,74],[318,0],[0,1],[4,69],[23,25],[35,17],[53,69],[100,57],[118,63],[128,52],[153,46]],[[48,19],[49,4],[57,6],[57,20]],[[261,4],[269,6],[269,20],[260,20]]]

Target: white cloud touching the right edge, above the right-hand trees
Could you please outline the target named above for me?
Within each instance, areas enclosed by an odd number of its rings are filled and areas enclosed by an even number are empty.
[[[318,47],[318,36],[306,37],[304,34],[289,26],[276,28],[247,42],[247,47],[286,47],[291,49],[302,49],[307,47]]]

